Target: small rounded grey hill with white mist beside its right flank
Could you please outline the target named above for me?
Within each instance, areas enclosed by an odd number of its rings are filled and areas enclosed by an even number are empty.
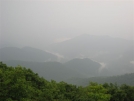
[[[71,68],[88,77],[97,76],[100,68],[100,64],[92,61],[91,59],[73,59],[65,63],[67,68]]]

